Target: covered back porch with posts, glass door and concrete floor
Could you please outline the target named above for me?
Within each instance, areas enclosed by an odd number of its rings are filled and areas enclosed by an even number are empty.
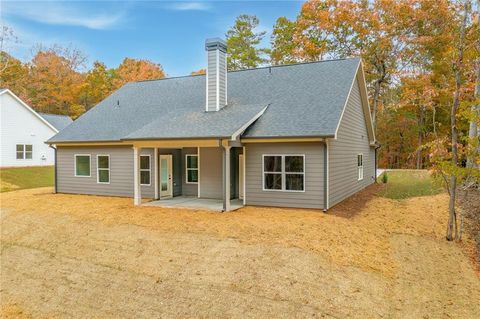
[[[141,141],[133,150],[135,205],[145,197],[153,201],[144,205],[214,211],[245,204],[245,149],[237,141]],[[142,194],[145,185],[153,194]]]

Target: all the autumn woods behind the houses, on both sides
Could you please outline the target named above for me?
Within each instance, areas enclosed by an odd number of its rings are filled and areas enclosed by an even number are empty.
[[[478,1],[307,1],[295,20],[277,19],[270,47],[261,45],[259,23],[241,15],[226,32],[229,70],[362,57],[382,144],[380,167],[428,168],[439,157],[451,158],[452,134],[458,135],[460,164],[477,150]],[[37,46],[22,62],[5,49],[15,42],[14,31],[2,30],[0,87],[38,111],[75,118],[129,81],[166,76],[148,60],[88,66],[82,52],[59,46]]]

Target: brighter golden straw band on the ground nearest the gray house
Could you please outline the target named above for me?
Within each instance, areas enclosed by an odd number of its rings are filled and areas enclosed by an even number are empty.
[[[235,238],[245,243],[298,247],[320,253],[331,262],[393,277],[392,234],[443,239],[448,196],[439,194],[405,200],[366,196],[360,192],[332,213],[319,210],[245,207],[214,213],[160,207],[134,207],[131,198],[53,194],[51,188],[21,190],[0,195],[8,214],[68,214],[80,222],[130,224],[161,232],[201,233]],[[371,197],[361,207],[359,199]],[[353,206],[355,205],[355,206]],[[345,218],[341,210],[358,208]]]

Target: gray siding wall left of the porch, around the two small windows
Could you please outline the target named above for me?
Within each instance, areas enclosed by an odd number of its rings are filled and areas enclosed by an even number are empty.
[[[75,154],[90,155],[90,177],[75,176]],[[110,156],[110,184],[97,183],[97,155]],[[153,149],[142,149],[142,155],[150,155],[150,186],[141,186],[142,197],[153,198],[154,157]],[[133,149],[129,147],[58,147],[57,192],[133,197]]]

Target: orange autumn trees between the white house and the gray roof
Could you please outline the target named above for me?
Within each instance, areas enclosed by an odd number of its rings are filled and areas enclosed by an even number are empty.
[[[0,53],[0,87],[11,89],[40,112],[77,118],[128,82],[165,77],[162,66],[148,60],[125,58],[112,69],[95,61],[85,70],[87,59],[78,50],[39,46],[34,51],[26,63]]]

